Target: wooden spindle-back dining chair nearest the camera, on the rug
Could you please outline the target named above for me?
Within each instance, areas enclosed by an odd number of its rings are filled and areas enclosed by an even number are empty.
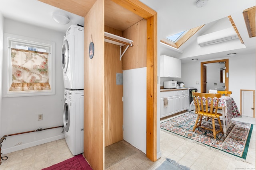
[[[220,133],[220,132],[223,133],[222,125],[220,122],[220,116],[222,116],[222,113],[217,113],[219,98],[221,97],[221,94],[192,92],[192,95],[194,96],[195,113],[198,115],[196,117],[196,122],[193,127],[193,132],[196,130],[197,127],[208,129],[213,132],[213,137],[214,139],[216,139],[217,133]],[[208,106],[209,106],[209,109],[204,109],[204,108],[208,108]],[[207,117],[207,119],[208,117],[212,119],[212,122],[206,121],[207,123],[212,124],[212,129],[202,126],[202,118],[204,116]],[[214,120],[215,118],[218,119],[218,124],[220,125],[220,130],[218,131],[216,131],[216,128],[215,128],[215,120]]]

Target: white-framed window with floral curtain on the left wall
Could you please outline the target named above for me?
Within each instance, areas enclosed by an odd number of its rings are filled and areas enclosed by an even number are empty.
[[[4,43],[3,97],[55,94],[55,43],[8,33]]]

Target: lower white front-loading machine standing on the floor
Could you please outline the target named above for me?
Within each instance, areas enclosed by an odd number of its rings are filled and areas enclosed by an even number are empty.
[[[73,155],[84,152],[84,90],[64,89],[64,135]]]

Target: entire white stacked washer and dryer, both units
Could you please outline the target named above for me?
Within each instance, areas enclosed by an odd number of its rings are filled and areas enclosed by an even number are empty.
[[[64,135],[73,155],[84,152],[84,28],[71,25],[62,45]]]

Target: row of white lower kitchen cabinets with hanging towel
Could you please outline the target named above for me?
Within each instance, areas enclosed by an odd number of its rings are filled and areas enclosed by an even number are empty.
[[[188,109],[188,90],[174,90],[172,92],[160,93],[160,118]],[[166,107],[164,107],[164,98],[168,99],[168,105]]]

